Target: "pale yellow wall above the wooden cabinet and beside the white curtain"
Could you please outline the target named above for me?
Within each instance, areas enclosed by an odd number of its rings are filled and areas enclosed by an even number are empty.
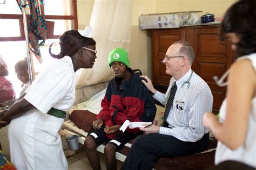
[[[113,1],[113,0],[112,0]],[[143,74],[152,77],[152,31],[139,29],[139,17],[146,13],[167,13],[178,11],[203,11],[223,16],[236,0],[133,0],[132,37],[129,52],[131,68],[139,68]],[[78,27],[89,25],[94,0],[77,0]]]

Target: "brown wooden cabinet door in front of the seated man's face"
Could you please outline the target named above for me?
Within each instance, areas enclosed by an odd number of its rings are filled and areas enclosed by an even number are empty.
[[[170,75],[165,73],[164,54],[173,42],[186,39],[186,29],[153,30],[153,84],[158,89],[169,86]]]

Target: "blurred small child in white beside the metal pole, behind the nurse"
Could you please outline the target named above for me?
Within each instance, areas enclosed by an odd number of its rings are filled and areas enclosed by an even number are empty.
[[[30,86],[29,68],[28,68],[28,62],[26,61],[26,58],[16,63],[15,72],[17,74],[19,81],[22,82],[22,90],[20,93],[20,95],[22,95],[26,91],[26,89]]]

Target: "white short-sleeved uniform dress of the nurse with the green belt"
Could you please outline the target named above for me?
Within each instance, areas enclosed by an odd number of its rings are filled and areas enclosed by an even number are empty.
[[[75,101],[76,75],[69,56],[42,70],[26,90],[26,101],[36,109],[11,120],[8,131],[11,161],[17,169],[68,169],[58,134],[63,118],[46,114],[66,111]]]

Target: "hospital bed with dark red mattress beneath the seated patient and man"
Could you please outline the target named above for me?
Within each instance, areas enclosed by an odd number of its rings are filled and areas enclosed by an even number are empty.
[[[100,102],[105,95],[105,88],[107,82],[100,83],[95,86],[89,86],[86,88],[78,89],[77,95],[79,95],[76,101],[77,103],[85,100],[85,102],[78,103],[69,111],[70,118],[66,120],[63,125],[64,128],[59,131],[60,135],[71,136],[72,134],[78,134],[78,142],[84,144],[84,140],[87,137],[90,128],[92,127],[92,121],[95,120],[96,114],[101,109]],[[102,90],[103,89],[103,90]],[[92,91],[98,92],[93,95]],[[84,95],[86,94],[86,95]],[[92,96],[92,97],[91,97]],[[84,98],[82,98],[84,97]],[[164,107],[157,107],[156,118],[154,119],[154,124],[160,125],[163,121]],[[93,113],[94,112],[94,113]],[[75,123],[76,124],[75,124]],[[117,160],[124,161],[126,155],[129,153],[130,147],[132,145],[131,140],[129,143],[125,144],[122,150],[116,152]],[[214,165],[214,154],[217,141],[215,139],[210,140],[210,144],[206,151],[188,155],[184,157],[176,158],[159,158],[154,168],[156,169],[205,169]],[[104,144],[97,147],[97,151],[104,153]]]

